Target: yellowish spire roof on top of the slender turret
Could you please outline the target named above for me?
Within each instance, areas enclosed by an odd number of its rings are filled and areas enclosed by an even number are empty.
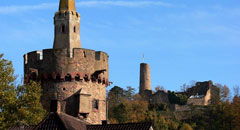
[[[75,0],[60,0],[59,11],[76,11]]]

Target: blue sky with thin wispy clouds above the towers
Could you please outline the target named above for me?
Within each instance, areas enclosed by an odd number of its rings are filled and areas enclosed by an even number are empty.
[[[239,0],[75,1],[82,47],[109,55],[108,89],[138,91],[143,54],[153,89],[180,90],[184,83],[208,80],[240,85]],[[0,53],[19,77],[25,53],[52,48],[58,3],[1,0]]]

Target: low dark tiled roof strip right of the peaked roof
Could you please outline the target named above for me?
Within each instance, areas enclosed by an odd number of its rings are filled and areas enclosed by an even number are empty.
[[[87,130],[150,130],[152,123],[88,125]]]

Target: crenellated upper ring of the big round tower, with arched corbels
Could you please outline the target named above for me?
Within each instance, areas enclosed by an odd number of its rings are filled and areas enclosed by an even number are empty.
[[[91,81],[109,85],[108,55],[83,48],[74,48],[72,57],[67,49],[45,49],[42,52],[27,53],[24,55],[24,71],[26,81]]]

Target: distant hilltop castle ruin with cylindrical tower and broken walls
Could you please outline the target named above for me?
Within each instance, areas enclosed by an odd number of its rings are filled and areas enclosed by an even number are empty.
[[[168,92],[164,90],[152,91],[150,65],[147,63],[140,64],[139,94],[151,104],[166,104],[173,111],[190,110],[190,105],[206,106],[217,104],[219,100],[219,88],[214,86],[210,80],[197,82],[195,86],[188,88],[186,92],[176,92],[176,95],[185,95],[188,99],[185,105],[172,104]]]

